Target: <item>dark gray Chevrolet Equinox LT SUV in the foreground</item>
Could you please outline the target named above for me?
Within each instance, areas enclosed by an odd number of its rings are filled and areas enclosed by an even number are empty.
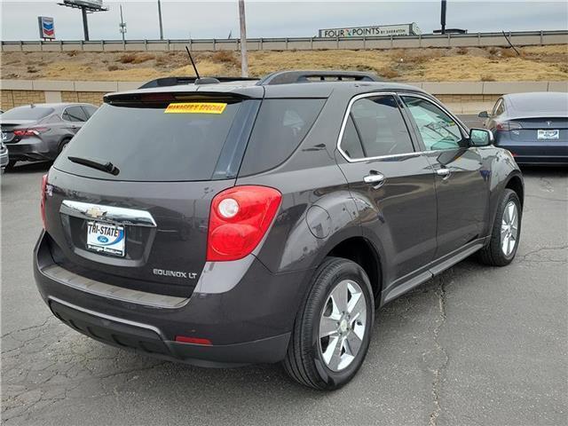
[[[106,95],[43,177],[35,275],[51,311],[163,359],[347,383],[375,308],[475,252],[509,264],[521,227],[523,178],[491,132],[377,80]]]

